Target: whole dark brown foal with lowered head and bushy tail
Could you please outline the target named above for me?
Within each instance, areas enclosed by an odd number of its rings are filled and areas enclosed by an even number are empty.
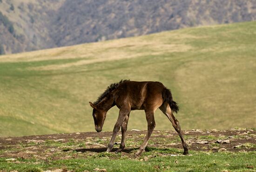
[[[120,130],[122,139],[120,148],[116,152],[121,152],[125,147],[125,135],[127,124],[131,110],[144,110],[148,122],[148,133],[135,155],[140,155],[148,144],[150,135],[155,128],[154,113],[157,108],[168,117],[173,127],[179,134],[184,148],[183,154],[188,154],[188,145],[183,136],[179,121],[173,115],[179,110],[176,102],[173,101],[171,91],[160,82],[135,82],[129,80],[121,80],[119,83],[113,83],[94,103],[89,102],[93,108],[93,117],[95,130],[101,132],[106,114],[110,108],[117,106],[119,116],[115,123],[112,138],[108,144],[107,152],[110,152],[114,146],[115,138]]]

